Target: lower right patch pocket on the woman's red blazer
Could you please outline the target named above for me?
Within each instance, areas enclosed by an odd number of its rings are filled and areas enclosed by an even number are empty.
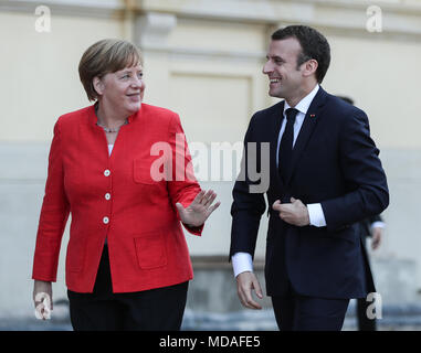
[[[162,232],[148,232],[135,237],[137,263],[141,269],[167,266],[167,245]]]

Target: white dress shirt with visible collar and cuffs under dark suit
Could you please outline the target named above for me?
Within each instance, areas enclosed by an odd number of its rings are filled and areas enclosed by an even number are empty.
[[[293,140],[293,147],[295,145],[295,141],[298,137],[299,130],[303,126],[305,115],[307,114],[307,110],[316,96],[317,92],[319,89],[319,85],[316,85],[313,90],[305,96],[299,103],[294,107],[295,109],[298,110],[296,117],[295,117],[295,122],[294,122],[294,140]],[[284,135],[285,127],[286,127],[286,109],[291,108],[291,106],[286,103],[284,104],[284,119],[282,121],[281,130],[280,130],[280,136],[277,138],[277,148],[276,148],[276,156],[280,156],[280,146],[281,146],[281,139],[282,136]],[[276,167],[278,165],[278,160],[276,160]],[[270,207],[272,205],[269,205]],[[308,216],[309,216],[309,224],[316,227],[324,227],[326,226],[326,220],[325,215],[323,213],[322,205],[319,203],[313,203],[313,204],[307,204],[307,210],[308,210]],[[234,270],[234,276],[236,277],[241,272],[244,271],[253,271],[253,260],[252,256],[249,253],[235,253],[232,256],[232,267]]]

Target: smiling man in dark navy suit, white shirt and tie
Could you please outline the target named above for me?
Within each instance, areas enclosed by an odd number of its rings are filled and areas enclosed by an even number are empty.
[[[281,330],[340,330],[349,299],[375,291],[356,223],[388,206],[388,186],[366,114],[319,86],[329,62],[316,30],[273,33],[263,73],[270,96],[284,100],[252,117],[233,189],[230,258],[252,309],[261,308],[252,258],[266,194],[266,291]],[[266,190],[253,171],[269,175]]]

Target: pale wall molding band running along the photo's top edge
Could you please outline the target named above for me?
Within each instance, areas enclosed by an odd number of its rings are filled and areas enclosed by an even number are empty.
[[[366,11],[375,4],[383,17],[383,31],[376,38],[421,38],[421,2],[417,0],[0,0],[0,11],[34,13],[40,4],[61,15],[124,19],[128,12],[156,12],[269,26],[303,23],[357,35],[371,34],[366,30]]]

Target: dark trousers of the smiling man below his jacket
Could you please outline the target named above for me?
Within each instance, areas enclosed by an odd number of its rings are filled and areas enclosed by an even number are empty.
[[[325,299],[296,293],[290,284],[284,297],[272,297],[281,331],[340,331],[349,299]]]

